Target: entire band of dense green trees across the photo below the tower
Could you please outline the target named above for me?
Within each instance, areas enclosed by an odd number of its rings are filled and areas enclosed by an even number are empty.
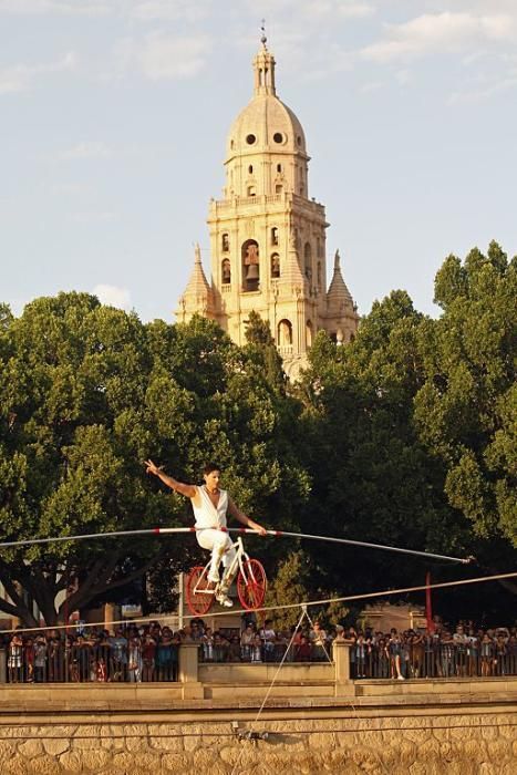
[[[84,293],[37,299],[20,318],[0,304],[1,539],[189,524],[142,461],[195,482],[215,458],[239,506],[271,527],[514,569],[516,298],[516,260],[497,245],[451,256],[436,320],[393,291],[350,345],[320,332],[296,385],[255,313],[238,348],[203,318],[143,324]],[[1,550],[12,602],[0,610],[31,626],[34,600],[52,624],[145,575],[168,589],[198,552],[188,538],[111,541]],[[275,579],[272,603],[466,572],[331,544],[249,548]],[[515,592],[485,585],[476,603],[488,613]],[[459,606],[462,592],[442,601]]]

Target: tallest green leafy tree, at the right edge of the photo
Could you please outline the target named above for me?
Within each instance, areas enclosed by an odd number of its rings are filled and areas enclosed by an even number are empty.
[[[446,466],[449,504],[475,535],[517,547],[517,260],[496,242],[436,276],[443,314],[422,329],[425,382],[415,422]],[[509,557],[508,552],[505,552]]]

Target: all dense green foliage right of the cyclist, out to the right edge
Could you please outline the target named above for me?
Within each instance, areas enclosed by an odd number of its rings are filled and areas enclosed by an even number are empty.
[[[418,585],[427,569],[435,580],[515,570],[516,264],[496,244],[486,257],[449,257],[436,277],[438,319],[394,291],[351,345],[318,335],[299,385],[313,477],[306,527],[477,559],[455,567],[323,546],[311,556],[327,588]],[[473,616],[510,606],[497,586],[440,596],[453,612],[464,598]]]

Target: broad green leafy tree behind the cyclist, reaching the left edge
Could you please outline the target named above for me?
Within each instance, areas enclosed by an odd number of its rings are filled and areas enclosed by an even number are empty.
[[[217,324],[143,326],[85,293],[37,299],[2,321],[3,540],[190,523],[184,498],[146,479],[149,455],[193,482],[218,459],[245,510],[275,524],[280,508],[296,520],[307,477],[278,433],[281,399]],[[0,600],[0,610],[34,626],[34,601],[53,624],[156,564],[186,569],[198,555],[194,540],[172,537],[4,549],[0,580],[11,602]]]

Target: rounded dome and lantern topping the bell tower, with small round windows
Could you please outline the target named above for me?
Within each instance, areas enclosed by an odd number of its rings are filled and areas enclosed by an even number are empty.
[[[307,156],[303,128],[276,94],[275,58],[265,45],[254,60],[254,70],[255,94],[231,125],[227,162],[265,151]]]

